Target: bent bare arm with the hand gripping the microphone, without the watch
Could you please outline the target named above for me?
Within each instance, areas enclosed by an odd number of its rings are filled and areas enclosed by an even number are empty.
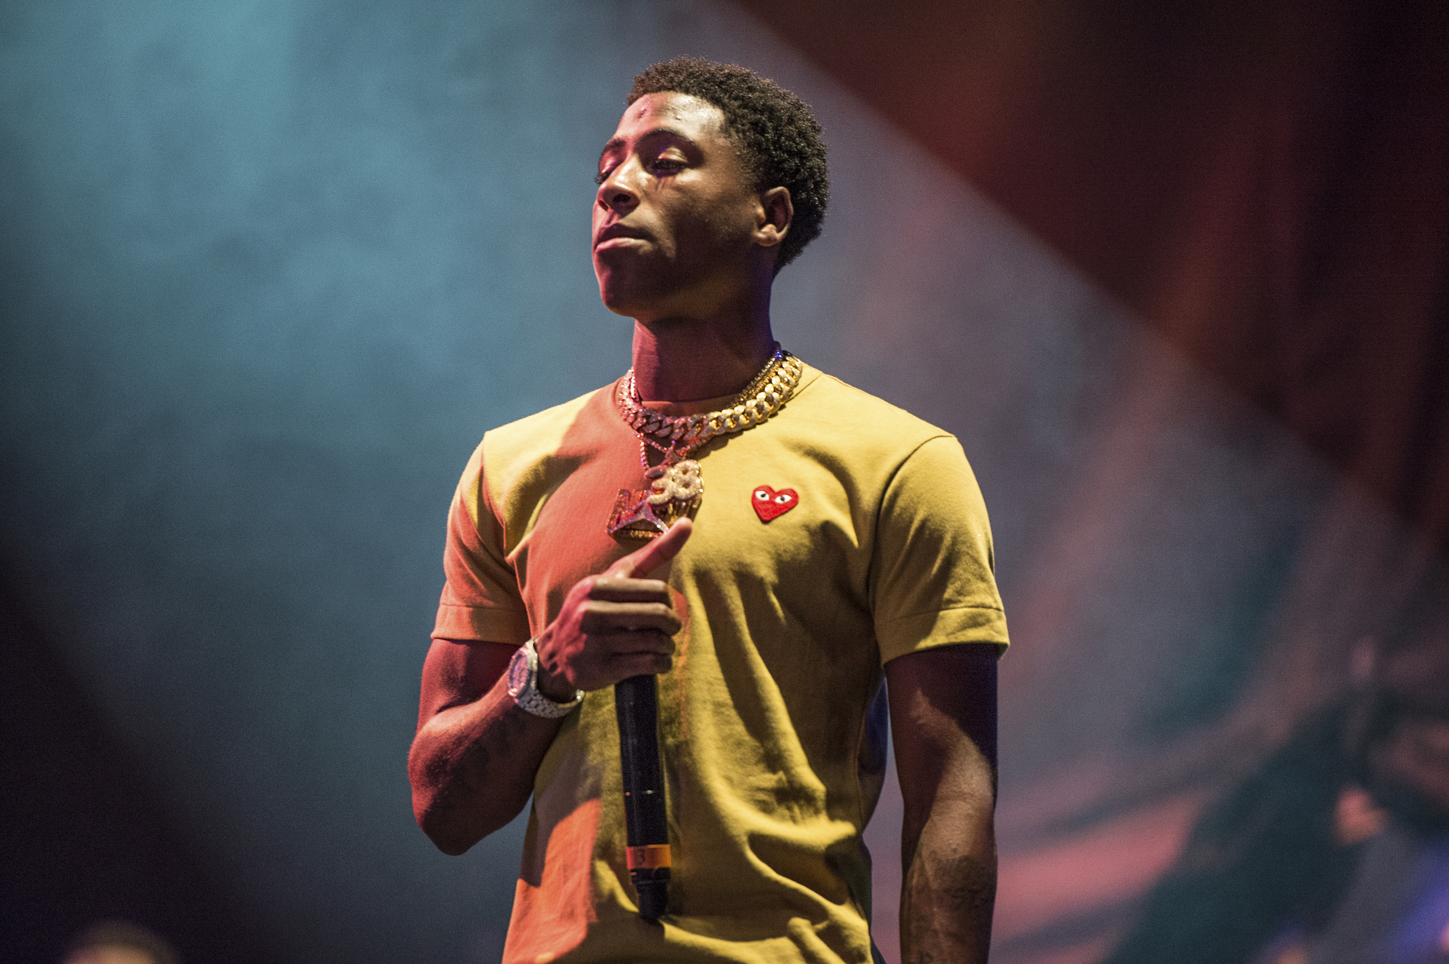
[[[688,521],[580,580],[535,641],[538,688],[556,702],[672,663],[680,620],[669,588],[640,579],[674,557]],[[407,757],[413,815],[445,854],[461,854],[529,802],[533,777],[562,725],[519,708],[504,670],[516,647],[433,640],[423,663],[417,735]]]

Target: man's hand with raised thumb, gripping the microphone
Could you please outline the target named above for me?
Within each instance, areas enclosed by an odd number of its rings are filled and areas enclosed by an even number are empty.
[[[669,586],[640,576],[674,559],[691,531],[690,520],[681,518],[603,575],[574,583],[558,617],[533,643],[539,692],[568,702],[578,689],[603,689],[630,676],[669,672],[680,617]]]

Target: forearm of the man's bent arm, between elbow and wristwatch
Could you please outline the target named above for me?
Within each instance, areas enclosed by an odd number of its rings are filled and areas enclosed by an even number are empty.
[[[439,850],[461,854],[517,816],[559,719],[525,712],[504,679],[433,715],[407,758],[413,813]]]

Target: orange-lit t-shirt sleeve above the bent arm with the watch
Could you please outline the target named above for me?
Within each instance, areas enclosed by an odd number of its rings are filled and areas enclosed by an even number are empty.
[[[448,510],[442,599],[435,640],[487,640],[523,644],[529,617],[519,580],[504,556],[503,525],[488,498],[483,446],[472,453]]]

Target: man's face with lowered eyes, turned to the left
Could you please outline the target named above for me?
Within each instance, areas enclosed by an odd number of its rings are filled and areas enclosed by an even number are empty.
[[[764,214],[719,107],[640,97],[604,145],[598,175],[594,274],[610,311],[691,317],[748,284]]]

